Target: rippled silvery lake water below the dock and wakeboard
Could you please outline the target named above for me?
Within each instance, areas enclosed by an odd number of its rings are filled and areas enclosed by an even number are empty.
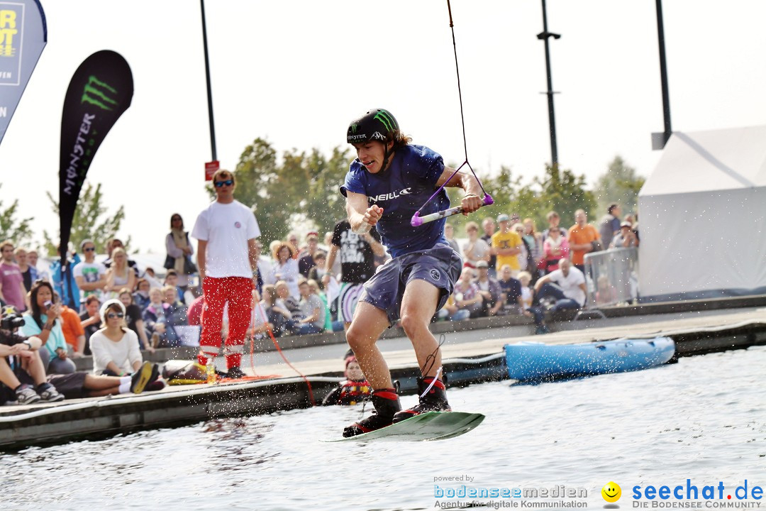
[[[764,368],[761,346],[643,372],[452,389],[455,410],[486,420],[447,441],[322,443],[361,410],[329,407],[33,447],[0,455],[0,509],[444,509],[466,499],[435,495],[463,485],[584,489],[567,502],[603,509],[610,481],[631,509],[633,486],[687,479],[731,493],[745,480],[766,486]],[[525,505],[552,501],[562,500]]]

